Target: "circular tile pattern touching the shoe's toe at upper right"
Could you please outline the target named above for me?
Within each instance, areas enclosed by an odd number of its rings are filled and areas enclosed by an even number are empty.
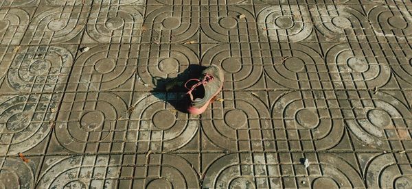
[[[263,68],[261,62],[254,60],[249,55],[243,55],[242,51],[254,51],[258,49],[238,49],[236,45],[216,45],[207,50],[203,55],[201,64],[208,66],[216,64],[225,74],[226,81],[232,81],[236,89],[244,89],[253,86],[262,77]],[[232,86],[230,86],[232,87]]]

